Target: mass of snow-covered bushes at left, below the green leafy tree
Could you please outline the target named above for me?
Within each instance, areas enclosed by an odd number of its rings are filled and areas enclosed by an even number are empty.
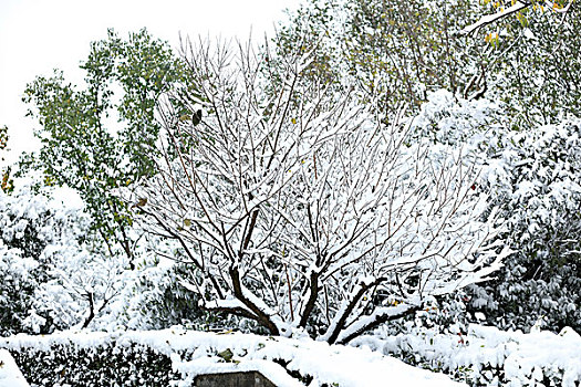
[[[93,330],[162,328],[193,322],[197,300],[179,285],[179,265],[159,263],[146,244],[128,270],[91,238],[77,196],[53,199],[27,184],[0,192],[0,332],[49,333],[73,326]]]

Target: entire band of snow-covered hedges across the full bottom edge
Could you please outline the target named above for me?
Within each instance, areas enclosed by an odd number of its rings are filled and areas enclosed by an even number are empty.
[[[329,345],[308,337],[205,333],[63,332],[0,339],[34,385],[190,386],[200,374],[258,370],[277,386],[563,386],[581,383],[581,337],[572,328],[529,334],[470,325],[467,333],[407,334]],[[359,346],[355,347],[355,346]],[[390,356],[385,356],[390,355]],[[394,356],[394,357],[392,357]],[[400,357],[412,367],[396,359]],[[442,374],[447,373],[452,381]]]

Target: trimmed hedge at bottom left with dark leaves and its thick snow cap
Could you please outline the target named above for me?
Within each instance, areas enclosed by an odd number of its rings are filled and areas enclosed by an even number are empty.
[[[445,375],[369,348],[174,327],[126,333],[58,333],[0,339],[32,386],[191,386],[197,375],[258,370],[281,387],[460,386]],[[106,383],[104,381],[106,380]]]

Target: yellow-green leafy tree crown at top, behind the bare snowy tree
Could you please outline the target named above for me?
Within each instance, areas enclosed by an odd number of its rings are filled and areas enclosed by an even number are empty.
[[[475,12],[469,0],[311,0],[283,25],[278,44],[289,52],[307,42],[317,54],[313,76],[350,74],[364,101],[378,95],[388,112],[402,102],[417,109],[430,91],[481,87],[479,75],[491,49],[455,35]]]

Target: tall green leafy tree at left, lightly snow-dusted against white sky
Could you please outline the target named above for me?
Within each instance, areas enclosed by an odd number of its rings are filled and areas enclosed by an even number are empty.
[[[33,105],[28,114],[41,125],[35,135],[42,148],[20,166],[41,170],[46,186],[77,190],[110,253],[120,243],[131,258],[131,213],[113,190],[154,174],[155,106],[181,79],[181,63],[146,30],[126,41],[110,30],[106,40],[91,44],[81,69],[85,88],[66,83],[59,71],[27,86],[23,101]]]

